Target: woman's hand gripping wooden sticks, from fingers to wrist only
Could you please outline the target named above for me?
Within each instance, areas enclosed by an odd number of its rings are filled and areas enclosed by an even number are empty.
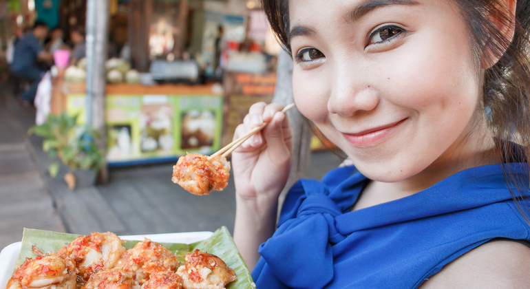
[[[273,202],[284,189],[293,154],[293,133],[283,108],[279,103],[256,103],[235,129],[234,139],[268,122],[232,153],[235,192],[242,200]]]

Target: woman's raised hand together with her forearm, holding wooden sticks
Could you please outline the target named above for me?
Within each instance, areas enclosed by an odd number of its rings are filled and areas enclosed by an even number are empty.
[[[250,270],[259,259],[259,244],[275,231],[278,196],[289,176],[293,132],[283,108],[279,103],[256,103],[235,129],[234,139],[268,122],[232,153],[236,202],[233,239]]]

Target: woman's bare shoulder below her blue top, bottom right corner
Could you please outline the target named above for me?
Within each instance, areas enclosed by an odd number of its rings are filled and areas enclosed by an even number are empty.
[[[530,248],[498,241],[478,246],[447,264],[420,289],[530,288]]]

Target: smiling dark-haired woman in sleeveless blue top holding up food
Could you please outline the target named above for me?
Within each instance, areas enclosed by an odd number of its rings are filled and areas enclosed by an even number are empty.
[[[270,124],[233,153],[234,240],[257,288],[528,287],[529,2],[263,4],[354,167],[295,184],[275,231],[292,134],[251,107],[235,138]]]

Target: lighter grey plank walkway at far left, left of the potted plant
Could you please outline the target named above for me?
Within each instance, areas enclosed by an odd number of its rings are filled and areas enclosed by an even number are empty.
[[[0,248],[20,241],[24,227],[65,231],[21,125],[32,115],[0,87]]]

